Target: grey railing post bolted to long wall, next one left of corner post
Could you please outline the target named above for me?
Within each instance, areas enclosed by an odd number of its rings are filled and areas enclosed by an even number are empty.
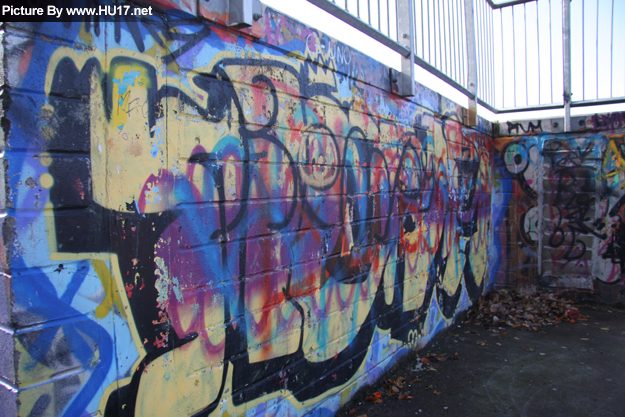
[[[397,28],[399,43],[410,52],[401,58],[401,77],[397,82],[398,94],[403,97],[414,96],[414,11],[413,0],[397,2]]]

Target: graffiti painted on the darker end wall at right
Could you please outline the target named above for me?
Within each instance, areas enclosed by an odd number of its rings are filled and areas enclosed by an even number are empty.
[[[538,262],[542,245],[547,276],[579,277],[571,285],[584,288],[592,288],[595,278],[622,282],[623,139],[544,134],[499,142],[503,206],[515,216],[510,230],[517,230],[519,243],[528,248],[528,264]],[[514,232],[502,238],[514,239]]]

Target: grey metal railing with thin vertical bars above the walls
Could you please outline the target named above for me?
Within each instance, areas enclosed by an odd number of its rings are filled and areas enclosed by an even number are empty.
[[[615,16],[625,17],[622,0],[308,1],[414,56],[469,107],[506,113],[625,103],[625,54],[614,48],[625,41],[625,26],[615,25]],[[410,30],[399,23],[408,2]]]

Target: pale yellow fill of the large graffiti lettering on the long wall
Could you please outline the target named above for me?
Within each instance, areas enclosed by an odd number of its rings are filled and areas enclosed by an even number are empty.
[[[57,49],[48,67],[45,87],[47,94],[50,94],[54,70],[61,60],[70,59],[78,69],[84,68],[87,61],[92,58],[103,65],[102,73],[94,71],[91,74],[90,91],[91,180],[93,199],[97,204],[111,210],[129,212],[133,210],[129,203],[135,202],[135,207],[139,208],[138,202],[142,202],[141,213],[162,213],[175,209],[182,203],[187,203],[188,201],[180,199],[183,197],[179,197],[171,189],[166,188],[175,185],[169,181],[169,178],[162,177],[166,171],[177,177],[186,175],[188,181],[197,190],[205,190],[202,194],[204,201],[219,201],[219,190],[214,183],[210,182],[211,176],[206,175],[205,168],[201,165],[189,164],[190,156],[197,147],[203,148],[203,152],[208,153],[213,152],[219,141],[224,138],[232,138],[235,141],[240,128],[239,123],[245,124],[250,131],[261,132],[272,117],[277,120],[275,130],[285,131],[280,133],[281,145],[284,145],[299,159],[293,164],[293,170],[298,170],[304,186],[310,187],[310,195],[313,193],[317,195],[317,191],[313,189],[321,189],[337,181],[339,170],[336,166],[344,162],[340,159],[346,152],[353,153],[354,166],[366,165],[365,161],[360,160],[362,156],[353,143],[355,140],[375,143],[375,146],[382,149],[380,153],[384,154],[389,161],[388,167],[372,168],[371,173],[367,170],[359,170],[354,174],[360,176],[358,182],[365,182],[363,178],[371,175],[369,182],[375,184],[376,187],[381,187],[376,190],[380,193],[390,192],[391,185],[396,183],[401,184],[402,190],[416,190],[424,186],[418,183],[417,177],[420,171],[426,170],[432,175],[440,175],[447,168],[453,171],[453,158],[461,159],[461,155],[454,153],[458,151],[452,149],[456,145],[448,146],[445,140],[445,133],[447,133],[449,141],[460,143],[462,141],[461,128],[456,127],[445,131],[445,127],[433,114],[417,109],[415,117],[419,115],[419,125],[427,129],[429,141],[419,149],[411,151],[412,161],[402,161],[402,157],[397,155],[396,149],[400,148],[397,143],[417,142],[413,141],[412,136],[408,134],[411,127],[399,126],[399,123],[393,120],[388,123],[374,121],[374,117],[370,115],[371,110],[367,108],[367,103],[371,100],[363,97],[358,88],[352,89],[353,96],[341,97],[332,71],[324,68],[319,68],[314,73],[311,72],[309,79],[305,82],[325,84],[331,87],[329,91],[334,88],[332,93],[334,96],[307,97],[306,103],[302,103],[302,100],[298,98],[300,80],[292,72],[278,66],[229,65],[223,69],[223,73],[230,80],[236,80],[232,83],[232,94],[237,95],[240,108],[230,105],[227,110],[229,113],[224,120],[208,120],[207,117],[199,115],[193,107],[196,105],[207,108],[210,99],[207,91],[200,88],[196,79],[203,74],[210,73],[220,60],[231,58],[233,54],[234,52],[231,51],[218,53],[212,60],[214,65],[189,70],[186,73],[185,82],[165,75],[166,71],[159,50],[136,53],[122,48],[113,48],[104,56],[97,50],[77,53],[71,48]],[[114,62],[114,59],[119,57],[128,59]],[[295,59],[274,56],[258,55],[249,59],[271,59],[296,69],[299,65]],[[179,72],[179,68],[176,67],[175,70]],[[217,81],[221,76],[216,76]],[[254,81],[262,78],[261,76],[271,80],[275,84],[274,87],[259,85],[262,83]],[[102,82],[104,77],[108,77],[110,91],[104,91],[103,86],[107,85]],[[180,76],[182,77],[184,75]],[[189,97],[191,104],[183,103],[179,97],[165,97],[159,102],[151,101],[153,98],[150,94],[155,89],[158,90],[164,86],[175,87],[180,94]],[[353,104],[348,112],[338,111],[336,102],[332,101],[333,98],[351,99]],[[278,103],[274,103],[274,100]],[[108,103],[110,107],[107,109],[108,101],[110,101]],[[258,102],[266,106],[259,105]],[[276,105],[273,106],[273,104]],[[456,108],[452,108],[453,106],[447,105],[447,107],[446,111],[458,113]],[[267,109],[273,108],[278,109],[277,115],[269,114]],[[54,111],[54,109],[49,110]],[[323,124],[328,127],[328,131],[337,132],[336,138],[332,136],[332,133],[321,128],[308,128],[307,130],[302,116],[306,112],[318,125]],[[149,123],[151,116],[154,119],[152,125]],[[458,125],[457,117],[448,119],[448,123]],[[359,129],[353,134],[355,140],[352,142],[341,136],[349,131],[349,128]],[[349,139],[354,139],[354,137]],[[336,142],[333,141],[334,139]],[[261,149],[261,146],[259,145],[258,148]],[[277,147],[267,146],[263,151],[271,155],[271,152],[277,152],[276,149]],[[475,150],[472,149],[472,152]],[[272,156],[267,159],[270,160]],[[474,154],[469,156],[476,157]],[[480,158],[477,159],[480,160]],[[274,160],[278,158],[275,157]],[[445,166],[446,160],[450,161],[450,167]],[[315,162],[308,163],[309,161],[316,161],[317,166],[314,166]],[[243,163],[246,162],[243,161]],[[284,161],[280,162],[286,165]],[[237,181],[240,181],[240,172],[237,169],[242,162],[233,156],[225,156],[220,163],[223,163],[222,172],[225,176],[223,181],[225,199],[227,202],[235,202],[241,198],[237,191]],[[486,183],[489,161],[484,158],[479,164],[478,179]],[[191,166],[193,170],[184,171]],[[457,168],[454,169],[456,171],[453,171],[450,184],[447,185],[449,188],[460,189],[459,173]],[[281,172],[281,175],[275,177],[278,182],[287,184],[283,187],[286,189],[285,194],[295,194],[293,188],[288,188],[285,172],[287,172],[286,169]],[[258,192],[258,189],[254,187],[264,185],[262,180],[255,182],[251,186],[252,191],[248,198],[254,198],[254,192]],[[47,208],[51,209],[51,206]],[[352,209],[353,207],[349,205],[345,206],[346,242],[342,247],[345,253],[341,254],[345,257],[354,249],[361,249],[354,248],[355,239],[350,225],[353,217],[350,211]],[[418,210],[406,211],[417,212]],[[379,213],[376,215],[383,216]],[[385,303],[392,305],[397,302],[394,300],[395,277],[399,275],[397,265],[400,257],[405,259],[403,276],[399,277],[404,280],[404,311],[414,311],[423,305],[429,281],[428,274],[433,262],[432,254],[440,245],[444,245],[443,256],[449,258],[448,268],[441,277],[440,287],[450,294],[459,288],[463,279],[462,266],[466,261],[463,249],[468,245],[475,248],[471,252],[470,261],[475,264],[476,283],[477,285],[482,283],[486,274],[486,248],[490,228],[486,220],[479,221],[476,226],[478,231],[471,238],[459,237],[454,230],[445,230],[442,226],[445,222],[444,218],[426,221],[425,215],[421,215],[413,221],[414,230],[401,236],[402,250],[405,253],[400,255],[399,249],[393,245],[379,245],[380,247],[371,249],[371,269],[367,279],[360,283],[325,285],[328,277],[319,264],[311,263],[302,267],[300,278],[303,284],[294,283],[290,288],[290,296],[297,298],[302,311],[308,313],[308,318],[305,318],[306,325],[300,326],[299,321],[299,315],[305,316],[306,314],[295,309],[289,300],[283,298],[267,307],[268,294],[263,292],[262,279],[249,279],[246,282],[246,293],[243,294],[249,314],[243,320],[247,320],[248,333],[245,337],[248,342],[248,351],[246,353],[250,363],[286,356],[296,352],[300,347],[307,355],[306,360],[311,363],[324,362],[336,357],[350,346],[360,328],[365,325],[367,318],[370,318],[369,313],[373,308],[375,294],[382,282],[384,283]],[[52,220],[49,221],[48,228],[51,259],[89,259],[91,261],[106,293],[95,309],[96,317],[106,317],[113,310],[113,306],[116,306],[123,317],[128,320],[133,342],[139,352],[139,360],[135,368],[146,356],[144,349],[146,343],[158,344],[159,347],[170,343],[169,340],[173,339],[173,335],[168,333],[161,333],[160,338],[157,337],[156,340],[139,340],[135,318],[131,312],[126,312],[129,310],[129,300],[123,292],[124,284],[115,254],[59,253],[54,240]],[[444,230],[445,233],[443,233]],[[223,238],[226,239],[226,236]],[[276,247],[279,246],[279,240],[280,237],[276,237],[273,241]],[[167,242],[164,246],[170,248],[175,247],[175,244]],[[175,256],[175,249],[170,254]],[[272,256],[279,258],[281,254],[276,251]],[[172,291],[184,292],[184,290],[180,290],[177,278],[169,276],[173,273],[173,268],[168,268],[167,257],[155,256],[154,261],[157,278],[156,282],[151,285],[156,285],[158,290],[158,299],[155,302],[160,303],[159,307],[166,310],[167,303],[173,301],[168,298],[171,297]],[[107,262],[110,262],[110,269]],[[453,266],[456,268],[454,269]],[[276,281],[280,281],[279,274],[275,275]],[[230,279],[235,280],[232,277]],[[277,288],[282,289],[287,286],[286,273],[283,274],[282,281],[276,285]],[[263,285],[259,284],[258,287],[254,287],[257,282]],[[134,370],[134,372],[142,373],[135,404],[136,415],[193,415],[218,399],[222,395],[220,388],[232,386],[232,366],[228,367],[228,360],[224,357],[226,324],[223,323],[223,311],[230,308],[226,305],[225,298],[209,290],[195,292],[188,290],[184,294],[176,293],[175,295],[180,306],[184,305],[184,307],[178,306],[177,310],[172,308],[176,315],[174,319],[168,318],[168,320],[175,321],[172,329],[180,338],[189,335],[194,335],[196,338],[182,346],[174,346],[170,352],[147,363],[144,369]],[[349,304],[346,306],[347,303]],[[318,311],[322,311],[322,317],[314,316]],[[313,312],[312,318],[311,312]],[[173,315],[170,314],[170,316]],[[452,318],[444,317],[443,319],[448,323],[452,320]],[[250,330],[262,327],[263,320],[278,325],[268,326],[265,332]],[[382,338],[386,336],[390,339],[390,331],[378,329],[378,334]],[[417,336],[416,331],[411,332],[410,343],[413,347],[420,343]],[[397,349],[401,344],[401,341],[391,340],[386,349]],[[371,350],[371,346],[368,349]],[[350,396],[349,393],[356,390],[358,378],[365,374],[365,366],[366,363],[363,362],[360,370],[350,381],[325,391],[324,395],[331,396],[340,393],[341,398],[346,401]],[[129,382],[129,378],[117,380],[107,388],[106,392],[111,393],[117,387]],[[299,402],[292,396],[292,393],[270,393],[240,407],[234,406],[232,401],[223,401],[215,412],[239,415],[246,408],[278,397],[288,398],[296,408],[300,409],[318,401],[318,399],[313,399]],[[101,410],[104,409],[107,399],[108,395],[102,397]]]

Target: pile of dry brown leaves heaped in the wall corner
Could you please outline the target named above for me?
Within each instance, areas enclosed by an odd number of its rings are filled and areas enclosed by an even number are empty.
[[[491,291],[480,297],[476,308],[467,313],[467,323],[538,330],[561,321],[588,320],[573,304],[548,292],[524,295],[509,290]]]

